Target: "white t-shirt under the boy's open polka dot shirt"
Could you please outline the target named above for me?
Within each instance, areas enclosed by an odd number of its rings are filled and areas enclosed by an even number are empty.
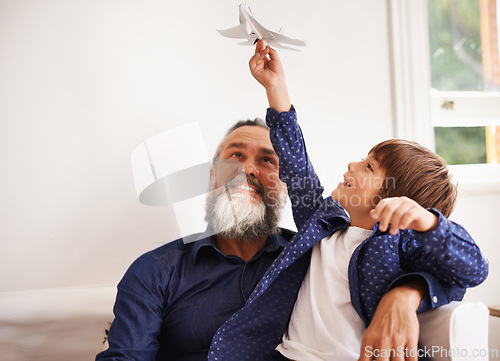
[[[372,233],[349,227],[313,247],[288,330],[276,348],[292,360],[355,361],[365,332],[351,304],[348,267],[356,247]]]

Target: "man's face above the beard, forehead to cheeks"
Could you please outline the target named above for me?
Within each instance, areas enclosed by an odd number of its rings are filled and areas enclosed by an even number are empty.
[[[231,195],[243,193],[256,202],[262,201],[258,187],[247,182],[231,182],[244,172],[255,177],[269,198],[278,199],[283,188],[279,180],[278,156],[269,140],[269,130],[259,126],[243,126],[231,132],[220,147],[214,168],[215,187],[226,186]]]

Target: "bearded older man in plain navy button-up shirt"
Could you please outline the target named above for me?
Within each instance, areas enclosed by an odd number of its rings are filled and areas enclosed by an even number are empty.
[[[229,130],[210,178],[207,230],[131,265],[118,285],[109,348],[97,361],[207,360],[217,329],[246,304],[292,238],[293,232],[278,228],[286,191],[263,122],[243,121]],[[415,309],[426,292],[421,286],[398,287],[382,299],[368,344],[377,347],[381,338],[384,346],[416,342]],[[294,302],[296,294],[288,297]]]

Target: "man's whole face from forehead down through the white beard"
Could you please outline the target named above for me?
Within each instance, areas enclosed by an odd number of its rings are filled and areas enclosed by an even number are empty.
[[[243,126],[231,132],[211,173],[206,220],[213,231],[226,238],[260,241],[277,232],[285,197],[269,130]]]

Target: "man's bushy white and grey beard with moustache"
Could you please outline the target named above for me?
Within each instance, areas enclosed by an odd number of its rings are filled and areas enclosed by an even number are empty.
[[[246,178],[244,174],[243,177]],[[248,182],[258,181],[249,179]],[[262,200],[257,200],[250,194],[242,192],[231,194],[226,187],[214,189],[212,181],[210,189],[205,218],[214,234],[220,234],[225,238],[257,242],[279,232],[278,222],[286,193],[281,194],[280,199],[276,201],[265,194],[261,184]]]

